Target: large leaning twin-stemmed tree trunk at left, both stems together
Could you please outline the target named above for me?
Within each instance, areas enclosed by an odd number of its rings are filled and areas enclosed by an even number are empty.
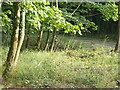
[[[22,14],[20,23],[20,4],[22,4]],[[24,40],[25,34],[25,9],[24,2],[14,2],[14,19],[13,19],[13,32],[11,38],[11,46],[8,52],[5,69],[3,71],[3,79],[6,80],[11,70],[16,66],[19,57],[20,49]],[[20,30],[21,28],[21,30]]]

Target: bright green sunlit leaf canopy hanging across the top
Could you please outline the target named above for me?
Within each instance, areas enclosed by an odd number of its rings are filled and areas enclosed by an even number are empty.
[[[12,3],[4,2],[2,5],[2,27],[4,31],[12,30]],[[69,5],[69,8],[66,6]],[[80,5],[80,9],[76,12],[75,9]],[[59,9],[51,7],[50,2],[26,2],[26,30],[29,30],[31,24],[31,31],[40,30],[43,26],[44,31],[59,31],[63,30],[65,33],[73,32],[74,34],[82,33],[88,30],[97,30],[97,25],[87,18],[85,15],[92,13],[101,13],[104,20],[113,19],[118,20],[118,6],[115,2],[109,3],[64,3],[61,2]],[[65,7],[65,8],[64,8]],[[60,31],[61,32],[61,31]]]

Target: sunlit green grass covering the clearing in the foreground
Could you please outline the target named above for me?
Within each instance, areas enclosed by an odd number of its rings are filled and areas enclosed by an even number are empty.
[[[35,38],[34,35],[30,42],[31,47],[34,46]],[[66,36],[63,40],[61,50],[56,52],[28,50],[23,47],[17,67],[4,82],[4,87],[118,87],[118,54],[112,52],[112,48],[69,42]],[[66,48],[63,49],[65,44]],[[1,46],[0,49],[4,64],[8,47]]]

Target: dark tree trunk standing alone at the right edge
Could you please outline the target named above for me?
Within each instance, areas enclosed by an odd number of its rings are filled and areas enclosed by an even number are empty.
[[[117,37],[117,43],[115,46],[115,52],[120,52],[120,2],[118,6],[118,37]]]

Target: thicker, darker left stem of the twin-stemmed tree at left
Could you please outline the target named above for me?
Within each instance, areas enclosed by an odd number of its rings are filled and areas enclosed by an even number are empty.
[[[7,76],[9,75],[10,71],[12,70],[15,64],[15,55],[16,55],[17,46],[18,46],[19,18],[20,18],[19,2],[13,3],[13,9],[14,9],[13,33],[12,33],[12,38],[11,38],[11,46],[10,46],[8,57],[6,60],[6,67],[3,71],[4,80],[7,79]]]

